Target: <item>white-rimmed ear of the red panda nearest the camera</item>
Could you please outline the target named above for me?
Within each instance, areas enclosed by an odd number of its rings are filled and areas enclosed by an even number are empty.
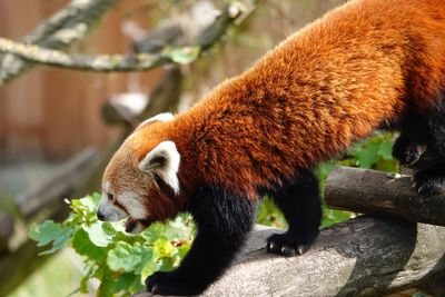
[[[147,174],[157,174],[167,185],[169,185],[175,195],[179,194],[179,170],[180,155],[174,141],[162,141],[139,162],[138,167]]]

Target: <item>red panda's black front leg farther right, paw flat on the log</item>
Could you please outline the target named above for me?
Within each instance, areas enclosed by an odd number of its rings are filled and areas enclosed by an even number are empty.
[[[310,170],[300,170],[294,180],[269,191],[289,228],[267,240],[267,250],[294,256],[304,254],[318,235],[322,220],[318,180]]]

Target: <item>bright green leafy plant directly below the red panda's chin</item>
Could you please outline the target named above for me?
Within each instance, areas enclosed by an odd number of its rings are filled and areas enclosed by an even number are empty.
[[[85,257],[86,275],[79,291],[88,293],[88,280],[100,280],[98,296],[129,296],[144,289],[144,280],[156,270],[170,270],[190,248],[194,225],[189,215],[161,225],[154,224],[139,235],[125,232],[122,222],[96,218],[100,195],[71,201],[71,215],[63,222],[33,224],[29,237],[38,246],[51,245],[42,255],[70,245]]]

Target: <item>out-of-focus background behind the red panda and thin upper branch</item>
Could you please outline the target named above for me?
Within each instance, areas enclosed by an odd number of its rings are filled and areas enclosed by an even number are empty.
[[[95,2],[101,7],[93,8]],[[215,23],[228,2],[236,3],[235,10],[227,11],[229,19],[237,19],[218,27]],[[29,225],[61,220],[68,212],[63,198],[98,191],[103,166],[135,122],[161,111],[187,110],[220,81],[240,73],[285,37],[343,2],[0,0],[0,37],[16,41],[30,42],[40,33],[36,42],[42,47],[88,55],[157,53],[169,46],[199,44],[202,49],[199,57],[179,55],[176,65],[107,73],[31,68],[14,56],[0,53],[0,296],[76,291],[82,259],[69,248],[38,257],[41,248],[28,239]],[[91,11],[101,9],[100,13],[87,11],[88,6]],[[79,24],[69,22],[76,18],[87,24],[87,33],[66,41],[70,33],[66,29]],[[219,30],[216,34],[215,28]],[[21,67],[16,73],[14,68]],[[340,162],[397,171],[390,157],[393,139],[393,135],[377,132]],[[332,166],[319,168],[322,182]],[[326,209],[323,224],[354,216]],[[268,199],[258,222],[285,227]],[[90,286],[95,295],[95,283]]]

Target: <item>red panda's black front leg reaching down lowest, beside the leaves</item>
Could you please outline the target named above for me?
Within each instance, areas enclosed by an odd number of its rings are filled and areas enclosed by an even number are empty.
[[[204,187],[188,209],[198,232],[181,265],[170,273],[156,273],[147,290],[160,295],[197,295],[230,265],[250,231],[256,202],[225,189]]]

